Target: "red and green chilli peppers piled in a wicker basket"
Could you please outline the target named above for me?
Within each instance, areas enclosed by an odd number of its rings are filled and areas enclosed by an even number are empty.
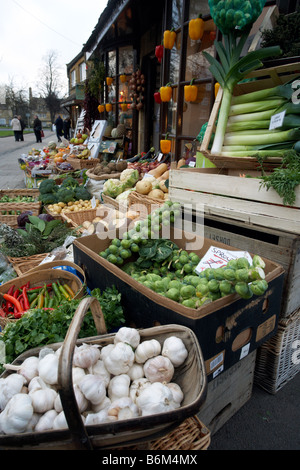
[[[54,308],[60,305],[63,299],[70,300],[74,296],[71,287],[66,283],[61,284],[58,280],[36,287],[30,287],[30,282],[21,287],[12,285],[7,293],[3,294],[0,316],[21,318],[23,313],[31,308]]]

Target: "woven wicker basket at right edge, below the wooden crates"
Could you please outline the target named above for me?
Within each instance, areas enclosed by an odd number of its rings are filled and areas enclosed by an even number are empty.
[[[276,334],[257,351],[254,382],[271,394],[300,371],[300,308],[278,324]],[[297,352],[298,351],[298,352]]]

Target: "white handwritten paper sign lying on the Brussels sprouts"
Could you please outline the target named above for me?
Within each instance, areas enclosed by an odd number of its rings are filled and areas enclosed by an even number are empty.
[[[231,251],[211,246],[196,266],[195,271],[200,274],[207,268],[223,268],[231,259],[244,257],[247,258],[250,264],[252,264],[252,258],[248,251]]]

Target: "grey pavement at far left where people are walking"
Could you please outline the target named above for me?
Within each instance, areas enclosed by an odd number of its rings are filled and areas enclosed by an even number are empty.
[[[32,148],[42,149],[50,140],[57,142],[55,132],[44,130],[42,143],[37,143],[35,135],[24,134],[23,142],[16,142],[12,137],[0,138],[0,189],[25,188],[24,172],[21,170],[18,158],[27,155]]]

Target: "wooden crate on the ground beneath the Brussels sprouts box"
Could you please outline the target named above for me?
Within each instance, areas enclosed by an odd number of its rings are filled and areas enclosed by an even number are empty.
[[[215,434],[251,398],[256,350],[208,383],[199,419]]]

